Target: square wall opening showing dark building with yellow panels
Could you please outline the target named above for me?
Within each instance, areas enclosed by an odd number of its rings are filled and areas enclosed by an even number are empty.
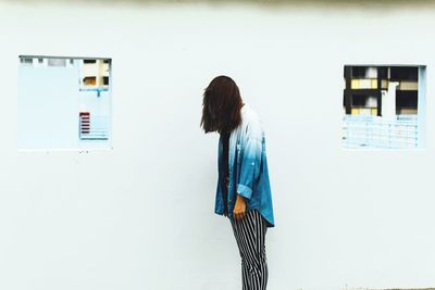
[[[345,65],[343,146],[423,148],[425,72],[424,65]]]

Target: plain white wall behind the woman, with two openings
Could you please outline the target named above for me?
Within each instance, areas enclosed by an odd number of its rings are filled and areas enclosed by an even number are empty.
[[[110,3],[0,2],[0,289],[240,289],[199,128],[219,74],[266,131],[269,289],[435,286],[433,5]],[[113,151],[16,151],[18,54],[113,59]],[[427,65],[426,150],[341,150],[364,63]]]

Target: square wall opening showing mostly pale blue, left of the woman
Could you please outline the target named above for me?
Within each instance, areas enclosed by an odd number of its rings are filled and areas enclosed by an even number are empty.
[[[18,61],[18,150],[111,149],[110,59]]]

